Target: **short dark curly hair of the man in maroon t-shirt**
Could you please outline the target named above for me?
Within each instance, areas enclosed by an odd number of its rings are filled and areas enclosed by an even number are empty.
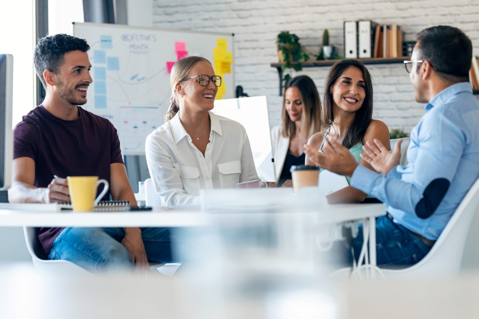
[[[90,45],[85,39],[80,39],[65,33],[47,35],[38,41],[35,47],[33,62],[36,75],[42,81],[46,89],[46,82],[43,78],[43,72],[48,70],[58,73],[58,68],[63,64],[64,56],[70,51],[87,52]]]

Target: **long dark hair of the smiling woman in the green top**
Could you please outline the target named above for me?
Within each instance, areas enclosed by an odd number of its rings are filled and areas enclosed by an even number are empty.
[[[332,111],[334,101],[331,88],[342,75],[342,72],[351,66],[357,67],[363,73],[366,97],[359,110],[356,111],[354,121],[349,126],[348,132],[346,132],[342,141],[342,145],[346,148],[351,148],[363,140],[367,127],[373,119],[373,80],[364,64],[353,59],[342,59],[331,66],[326,77],[326,83],[324,83],[324,98],[321,111],[321,124],[324,128],[328,128],[334,121]]]

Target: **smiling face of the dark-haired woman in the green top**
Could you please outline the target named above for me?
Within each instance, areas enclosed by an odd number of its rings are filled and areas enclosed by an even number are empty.
[[[347,112],[355,112],[361,108],[366,98],[363,72],[350,66],[338,77],[331,87],[334,105]]]

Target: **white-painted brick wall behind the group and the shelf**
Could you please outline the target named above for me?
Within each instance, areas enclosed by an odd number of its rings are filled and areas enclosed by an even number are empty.
[[[342,54],[344,20],[373,20],[397,23],[404,40],[415,39],[422,29],[449,24],[461,28],[472,40],[479,55],[478,0],[152,0],[154,27],[235,33],[235,81],[250,96],[266,95],[270,123],[280,123],[282,98],[276,36],[290,31],[300,37],[309,52],[318,54],[322,32],[328,28],[330,43]],[[404,66],[368,65],[374,79],[374,118],[389,128],[407,132],[423,114],[423,105],[414,101],[414,91]],[[305,68],[296,74],[311,77],[322,96],[328,67]]]

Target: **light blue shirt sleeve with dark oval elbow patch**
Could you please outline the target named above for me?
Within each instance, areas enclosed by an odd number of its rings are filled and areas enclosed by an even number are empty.
[[[431,110],[420,124],[417,158],[407,180],[399,166],[386,176],[359,165],[351,186],[395,209],[430,217],[456,175],[466,143],[464,133],[450,120],[457,115],[445,116],[443,111]]]

